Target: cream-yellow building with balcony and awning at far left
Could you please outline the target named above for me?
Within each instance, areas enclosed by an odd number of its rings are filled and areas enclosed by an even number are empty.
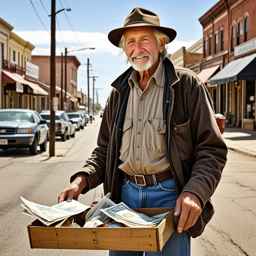
[[[39,110],[41,97],[48,92],[37,83],[39,69],[31,63],[34,46],[11,32],[12,26],[0,19],[5,26],[6,43],[1,54],[1,108],[30,108]],[[6,33],[7,31],[7,33]]]

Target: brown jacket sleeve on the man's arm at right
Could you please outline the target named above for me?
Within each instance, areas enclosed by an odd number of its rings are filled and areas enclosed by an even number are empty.
[[[203,208],[219,183],[227,147],[216,124],[209,93],[202,82],[196,83],[187,108],[194,149],[191,176],[182,192],[196,194]]]

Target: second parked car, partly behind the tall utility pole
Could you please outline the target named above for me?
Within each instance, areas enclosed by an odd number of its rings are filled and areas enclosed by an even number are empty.
[[[50,125],[50,111],[40,113],[41,117],[46,120],[47,126]],[[62,141],[75,135],[75,124],[69,119],[63,110],[55,111],[55,136],[60,136]]]

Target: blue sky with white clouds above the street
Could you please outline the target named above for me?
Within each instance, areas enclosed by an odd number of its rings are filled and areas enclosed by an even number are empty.
[[[13,32],[32,43],[34,55],[50,54],[50,0],[10,0],[1,6],[0,17],[14,26]],[[189,47],[202,37],[202,26],[198,18],[217,0],[56,0],[56,11],[63,7],[71,11],[61,11],[56,22],[56,55],[67,49],[95,47],[95,50],[72,52],[81,62],[77,74],[77,89],[87,94],[87,58],[91,65],[90,76],[98,76],[95,88],[99,103],[103,107],[111,90],[111,82],[129,65],[125,64],[124,53],[117,57],[118,48],[107,39],[110,30],[123,26],[123,21],[134,7],[142,7],[155,12],[160,24],[174,28],[177,36],[168,46],[172,53],[182,46]],[[66,15],[65,15],[66,14]],[[71,24],[71,25],[70,25]],[[60,28],[60,29],[59,29]],[[59,31],[60,30],[60,31]],[[74,30],[74,31],[73,31]],[[71,53],[68,53],[71,55]],[[92,78],[90,97],[92,98]],[[95,97],[95,95],[94,95]]]

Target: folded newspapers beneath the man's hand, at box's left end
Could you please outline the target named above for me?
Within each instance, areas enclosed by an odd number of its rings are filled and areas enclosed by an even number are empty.
[[[21,206],[24,207],[22,213],[39,219],[47,226],[90,208],[76,200],[71,200],[70,202],[63,201],[49,207],[28,201],[21,196],[20,198],[24,202],[24,204],[21,204]]]

